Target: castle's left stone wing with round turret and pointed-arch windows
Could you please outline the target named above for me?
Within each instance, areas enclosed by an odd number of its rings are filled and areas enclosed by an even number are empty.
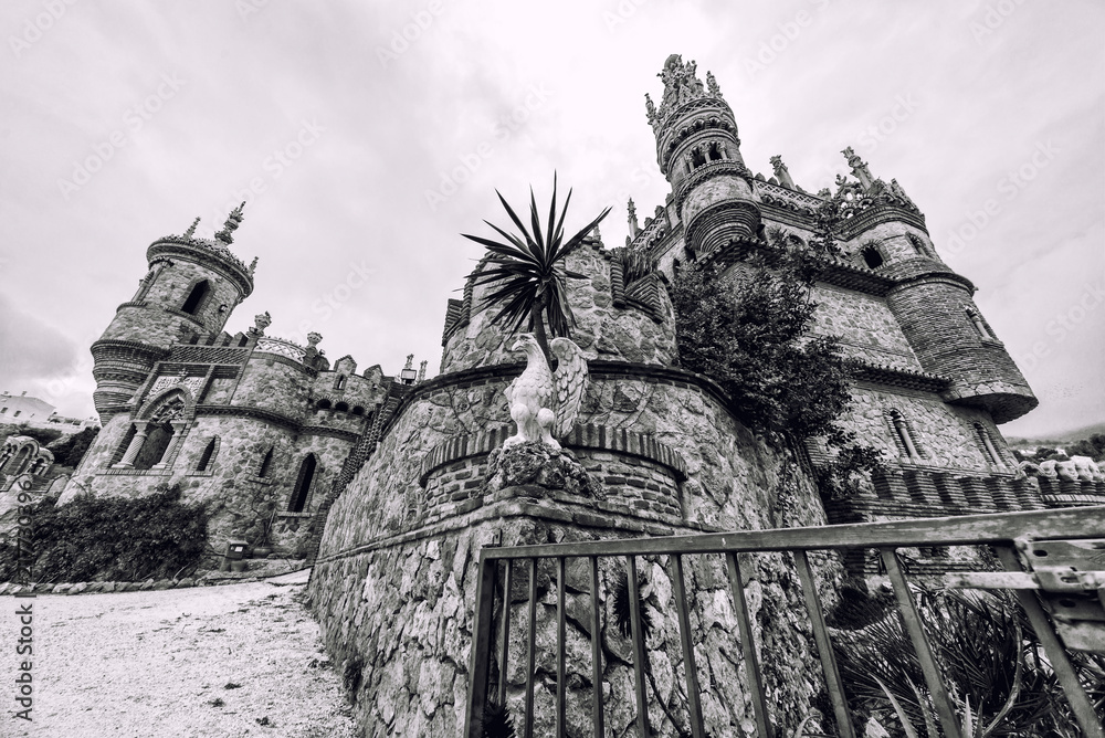
[[[330,368],[317,334],[306,347],[266,337],[267,313],[223,331],[253,291],[256,260],[230,250],[241,222],[240,207],[213,239],[192,223],[147,249],[137,293],[92,345],[103,430],[61,500],[179,484],[212,504],[213,546],[245,538],[303,556],[406,386],[379,366],[357,375],[350,356]]]

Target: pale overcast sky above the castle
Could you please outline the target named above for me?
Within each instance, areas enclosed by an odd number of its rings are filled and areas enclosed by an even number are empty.
[[[0,390],[62,413],[92,414],[88,346],[147,245],[243,199],[230,333],[269,310],[434,373],[495,188],[546,199],[556,169],[569,226],[613,205],[608,246],[628,196],[663,201],[643,96],[680,53],[754,171],[780,154],[815,191],[852,145],[901,182],[1040,397],[1007,434],[1105,420],[1099,2],[9,0],[0,31]]]

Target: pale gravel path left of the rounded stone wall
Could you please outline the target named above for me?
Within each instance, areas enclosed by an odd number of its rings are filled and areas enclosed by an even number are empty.
[[[302,602],[306,579],[0,598],[0,736],[354,738],[341,679]],[[27,603],[33,657],[15,653]],[[30,724],[14,716],[27,658]]]

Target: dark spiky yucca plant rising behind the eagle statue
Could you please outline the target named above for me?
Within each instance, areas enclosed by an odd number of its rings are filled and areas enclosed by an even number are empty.
[[[551,333],[554,338],[568,337],[576,325],[576,317],[571,313],[571,306],[568,305],[566,281],[587,278],[585,274],[567,271],[562,264],[564,260],[579,247],[587,234],[607,217],[610,208],[603,210],[598,218],[566,241],[564,217],[571,201],[571,190],[568,190],[560,218],[557,219],[556,175],[552,176],[552,203],[549,207],[548,224],[544,233],[533,188],[529,189],[529,230],[498,190],[495,190],[495,194],[498,196],[499,202],[503,203],[503,208],[520,234],[508,233],[490,221],[484,222],[506,239],[505,243],[462,233],[465,239],[485,246],[488,252],[488,264],[483,268],[477,267],[469,276],[475,278],[476,285],[493,285],[491,294],[482,304],[483,308],[496,306],[499,308],[492,317],[492,323],[505,325],[511,333],[517,333],[523,325],[526,325],[526,329],[534,334],[541,351],[545,352],[546,360],[551,363],[548,334]]]

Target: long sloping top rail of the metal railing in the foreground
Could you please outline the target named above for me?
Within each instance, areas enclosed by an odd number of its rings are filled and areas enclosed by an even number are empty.
[[[623,538],[571,544],[494,548],[495,559],[524,557],[651,556],[671,554],[738,554],[794,549],[877,548],[881,546],[977,546],[1002,544],[1023,535],[1033,538],[1095,538],[1105,505],[1066,509],[962,515],[890,523],[857,523],[815,528],[769,528],[730,533]]]

